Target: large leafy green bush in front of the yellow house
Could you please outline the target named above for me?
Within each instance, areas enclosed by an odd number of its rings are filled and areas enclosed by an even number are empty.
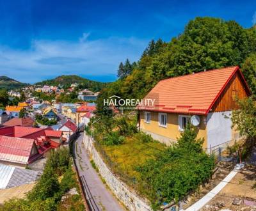
[[[203,152],[202,139],[195,137],[194,129],[186,129],[177,145],[157,153],[156,159],[147,160],[136,168],[141,182],[150,187],[143,191],[154,210],[164,202],[183,199],[212,175],[214,159]]]

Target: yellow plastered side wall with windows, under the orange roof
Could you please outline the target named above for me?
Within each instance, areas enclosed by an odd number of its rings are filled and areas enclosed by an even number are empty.
[[[150,123],[145,122],[144,111],[141,111],[140,114],[141,114],[140,127],[142,130],[167,137],[172,141],[175,141],[180,137],[181,131],[179,130],[179,114],[167,113],[167,127],[159,126],[157,112],[150,112],[150,116],[151,116]],[[207,129],[204,121],[204,116],[200,116],[200,119],[201,121],[200,121],[200,125],[198,126],[197,138],[204,138],[203,147],[207,148]]]

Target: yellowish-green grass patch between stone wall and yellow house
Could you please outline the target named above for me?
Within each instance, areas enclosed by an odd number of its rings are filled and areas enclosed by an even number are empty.
[[[139,164],[143,164],[145,160],[154,158],[156,153],[165,147],[166,145],[158,141],[143,143],[133,136],[126,137],[122,145],[104,146],[104,150],[111,161],[115,162],[123,173],[132,178],[138,178],[138,172],[134,168]]]

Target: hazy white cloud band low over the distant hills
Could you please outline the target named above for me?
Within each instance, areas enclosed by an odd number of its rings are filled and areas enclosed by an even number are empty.
[[[62,74],[116,75],[120,61],[137,61],[148,40],[109,37],[77,42],[33,40],[30,49],[0,45],[0,75],[36,82]]]

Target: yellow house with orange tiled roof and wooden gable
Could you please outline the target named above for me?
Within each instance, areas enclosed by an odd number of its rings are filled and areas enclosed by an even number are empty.
[[[239,108],[236,98],[250,95],[238,66],[164,79],[143,99],[154,104],[138,106],[140,130],[170,145],[191,123],[197,128],[197,137],[204,138],[208,152],[216,146],[232,145],[241,137],[227,117]]]

